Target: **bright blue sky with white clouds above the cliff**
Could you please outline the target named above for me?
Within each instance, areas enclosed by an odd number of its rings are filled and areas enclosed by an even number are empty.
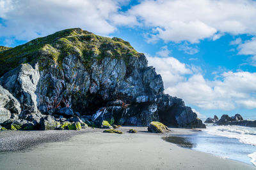
[[[256,118],[256,1],[0,0],[0,45],[80,27],[145,53],[200,118]]]

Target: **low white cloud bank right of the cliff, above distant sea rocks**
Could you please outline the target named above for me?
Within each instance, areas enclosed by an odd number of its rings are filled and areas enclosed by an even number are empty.
[[[196,66],[174,57],[147,56],[147,59],[162,75],[165,92],[184,99],[187,104],[206,110],[256,108],[256,73],[223,71],[216,80],[207,80],[200,67],[195,69]]]

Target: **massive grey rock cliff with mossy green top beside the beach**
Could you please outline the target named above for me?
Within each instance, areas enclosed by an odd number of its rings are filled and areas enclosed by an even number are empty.
[[[120,38],[67,29],[0,52],[0,63],[2,122],[26,120],[36,127],[51,115],[56,121],[77,116],[205,127],[182,99],[164,94],[145,55]]]

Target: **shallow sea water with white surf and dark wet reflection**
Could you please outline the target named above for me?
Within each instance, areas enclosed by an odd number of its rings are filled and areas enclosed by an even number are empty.
[[[255,127],[207,124],[207,128],[202,129],[201,132],[179,135],[176,138],[172,138],[172,136],[166,138],[164,140],[182,147],[256,166]]]

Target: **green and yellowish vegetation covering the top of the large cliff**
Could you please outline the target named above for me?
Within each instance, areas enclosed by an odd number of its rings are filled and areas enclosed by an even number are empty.
[[[111,57],[123,59],[128,64],[129,57],[140,57],[140,53],[123,39],[97,36],[79,28],[65,29],[15,48],[0,46],[0,76],[22,63],[39,62],[40,71],[51,64],[63,69],[62,61],[68,55],[79,56],[86,68],[91,66],[93,59],[101,62],[104,57]]]

